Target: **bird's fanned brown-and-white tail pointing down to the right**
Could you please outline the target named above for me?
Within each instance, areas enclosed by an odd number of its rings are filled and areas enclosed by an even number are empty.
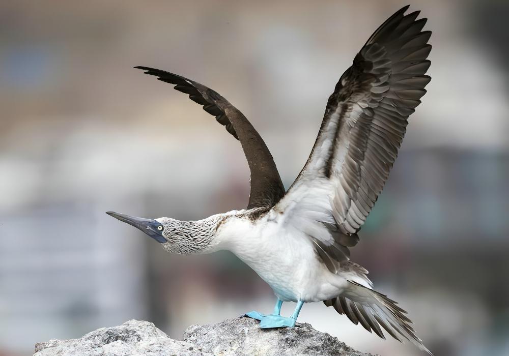
[[[324,301],[325,305],[334,307],[345,314],[354,324],[360,323],[364,329],[372,330],[385,339],[382,327],[394,339],[402,342],[402,338],[410,340],[423,351],[432,353],[415,335],[412,321],[405,315],[407,312],[397,306],[398,303],[387,298],[386,295],[365,287],[357,282],[348,281],[348,288],[339,296]]]

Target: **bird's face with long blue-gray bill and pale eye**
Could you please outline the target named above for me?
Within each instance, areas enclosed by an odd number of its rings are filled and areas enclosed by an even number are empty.
[[[174,239],[173,231],[175,231],[174,226],[177,222],[175,219],[145,219],[115,212],[107,212],[106,214],[142,230],[158,243],[164,244],[172,242]]]

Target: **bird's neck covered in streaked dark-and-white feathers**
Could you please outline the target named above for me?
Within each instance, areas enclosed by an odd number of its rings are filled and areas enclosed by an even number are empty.
[[[215,238],[220,221],[221,215],[197,221],[175,220],[169,228],[168,242],[163,244],[163,248],[181,255],[214,252],[218,244]]]

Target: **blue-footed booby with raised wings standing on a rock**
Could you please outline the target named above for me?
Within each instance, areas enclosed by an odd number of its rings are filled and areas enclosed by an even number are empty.
[[[305,303],[323,302],[385,339],[383,330],[432,354],[407,312],[374,289],[368,271],[350,260],[359,230],[398,156],[408,117],[421,103],[431,62],[430,31],[405,6],[376,29],[328,98],[313,149],[285,190],[260,134],[227,99],[183,76],[134,67],[202,105],[240,141],[250,169],[247,207],[203,220],[108,215],[142,230],[169,253],[229,250],[274,291],[270,314],[246,313],[260,328],[293,328]],[[284,302],[295,302],[289,317]],[[383,329],[383,330],[382,330]]]

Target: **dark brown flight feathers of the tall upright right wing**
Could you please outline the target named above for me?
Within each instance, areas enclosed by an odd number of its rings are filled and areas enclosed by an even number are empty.
[[[408,116],[426,94],[431,32],[426,19],[406,8],[387,20],[356,55],[329,99],[324,120],[338,120],[327,176],[341,176],[334,218],[344,233],[356,233],[370,213],[398,156]],[[346,153],[342,154],[344,147]]]

